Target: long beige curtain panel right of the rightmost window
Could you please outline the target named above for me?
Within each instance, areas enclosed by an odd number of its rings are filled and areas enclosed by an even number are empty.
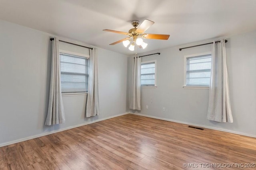
[[[209,91],[207,119],[218,122],[233,122],[226,64],[225,40],[212,45],[212,74]]]

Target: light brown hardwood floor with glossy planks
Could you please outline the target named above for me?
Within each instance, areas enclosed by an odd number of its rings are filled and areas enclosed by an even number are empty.
[[[253,164],[255,138],[131,114],[0,148],[0,169],[15,170],[256,169]],[[217,168],[203,168],[211,165]]]

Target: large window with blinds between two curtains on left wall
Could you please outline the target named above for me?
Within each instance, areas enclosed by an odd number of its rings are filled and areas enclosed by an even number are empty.
[[[88,92],[88,59],[60,53],[62,93]]]

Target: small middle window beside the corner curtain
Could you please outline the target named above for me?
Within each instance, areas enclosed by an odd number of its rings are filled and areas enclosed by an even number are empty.
[[[141,63],[140,84],[140,86],[156,86],[156,61]]]

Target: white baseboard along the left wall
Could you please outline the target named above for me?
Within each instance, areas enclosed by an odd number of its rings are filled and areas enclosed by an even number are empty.
[[[18,139],[18,140],[15,140],[15,141],[1,143],[0,147],[4,147],[4,146],[7,146],[7,145],[12,145],[14,143],[19,143],[19,142],[23,142],[23,141],[28,141],[30,139],[35,139],[37,137],[42,137],[42,136],[50,135],[50,134],[53,134],[53,133],[57,133],[57,132],[61,132],[61,131],[66,131],[68,129],[73,129],[73,128],[84,126],[84,125],[89,125],[89,124],[92,124],[92,123],[96,123],[96,122],[99,122],[99,121],[104,121],[104,120],[107,120],[107,119],[112,119],[114,117],[118,117],[118,116],[122,116],[122,115],[126,115],[126,114],[129,114],[129,112],[122,113],[122,114],[119,114],[119,115],[110,116],[110,117],[106,117],[106,118],[103,118],[103,119],[98,119],[98,120],[95,120],[95,121],[90,121],[90,122],[82,123],[82,124],[79,124],[79,125],[74,125],[74,126],[66,127],[66,128],[63,128],[63,129],[56,130],[56,131],[50,131],[50,132],[42,133],[42,134],[39,134],[39,135],[25,137],[25,138]]]

